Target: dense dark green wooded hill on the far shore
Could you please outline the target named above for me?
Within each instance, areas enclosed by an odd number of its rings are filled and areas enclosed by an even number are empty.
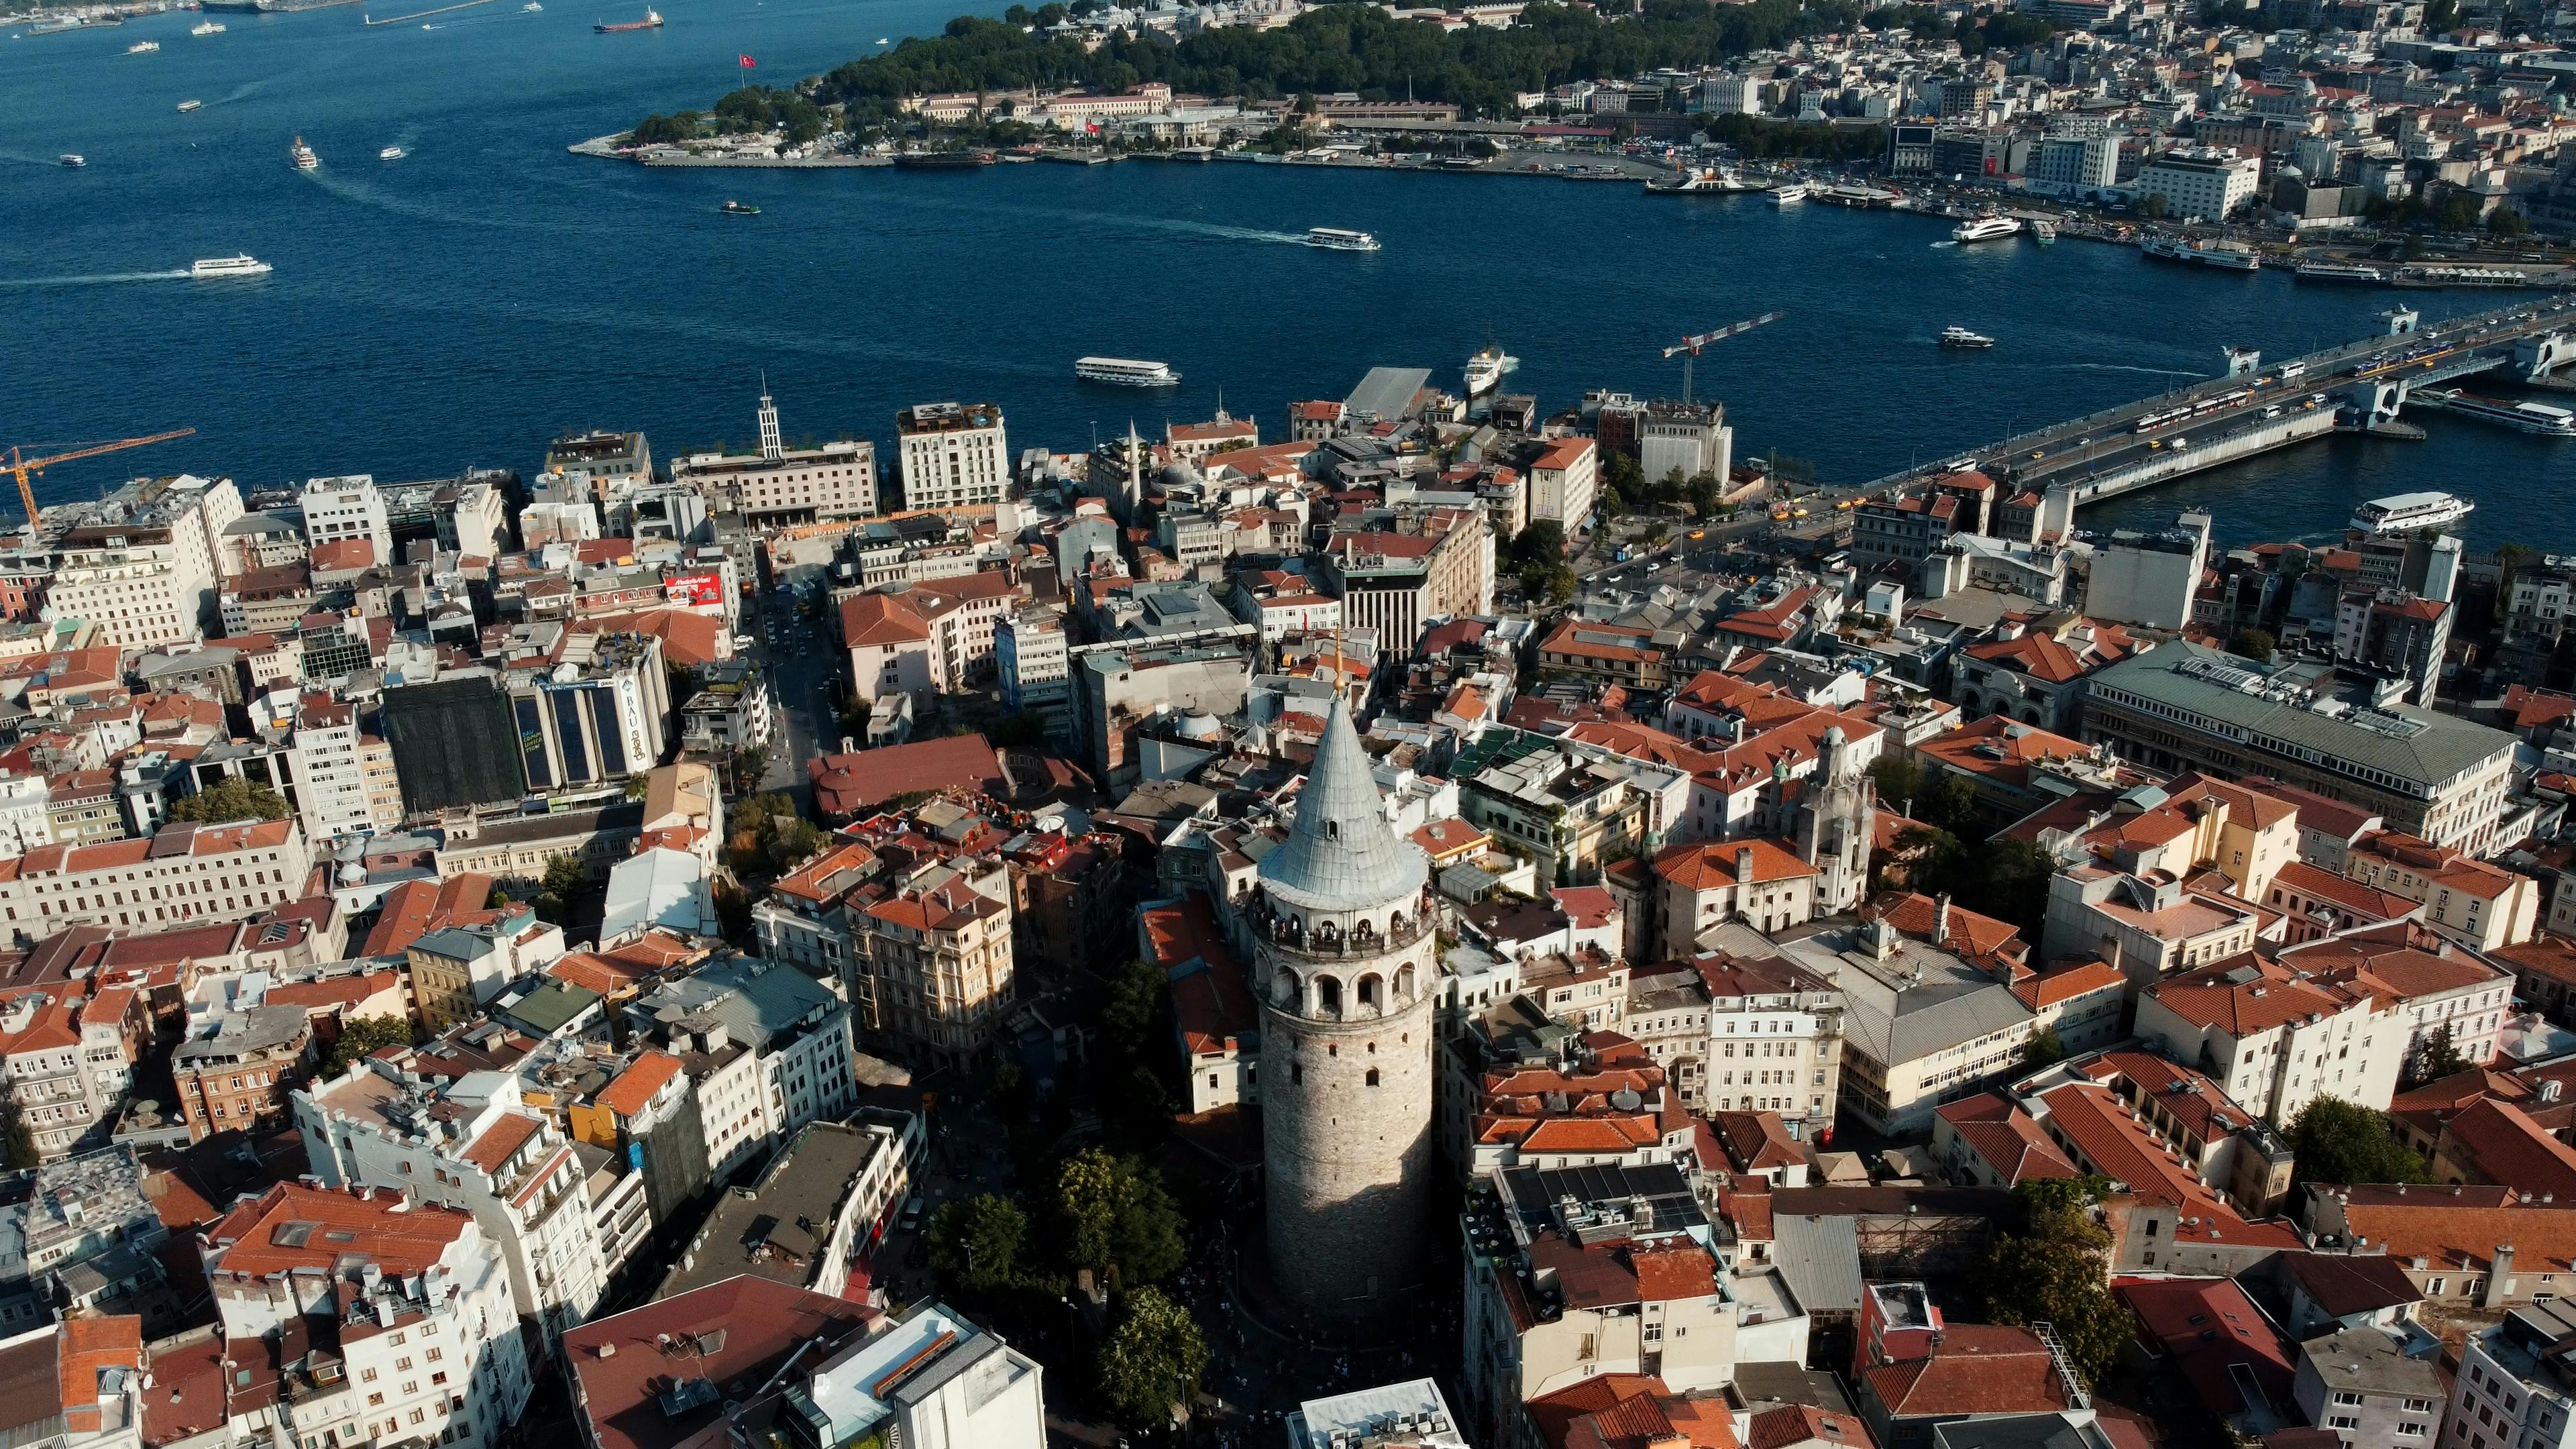
[[[1162,80],[1175,90],[1252,101],[1342,90],[1386,101],[1409,93],[1450,101],[1471,116],[1499,116],[1522,90],[1710,64],[1847,28],[1857,18],[1860,5],[1850,0],[1651,0],[1631,15],[1540,3],[1522,10],[1512,28],[1448,31],[1373,5],[1327,5],[1275,31],[1224,26],[1180,41],[1118,34],[1087,52],[1072,36],[958,15],[940,36],[907,39],[842,64],[811,95],[824,106],[848,106],[853,116],[884,116],[907,95],[943,90],[1128,90]]]

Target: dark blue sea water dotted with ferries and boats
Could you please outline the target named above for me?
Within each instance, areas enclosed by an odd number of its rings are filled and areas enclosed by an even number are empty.
[[[644,111],[703,106],[734,57],[786,83],[938,28],[961,0],[497,0],[366,28],[193,13],[0,41],[0,443],[170,425],[198,436],[57,469],[46,498],[142,469],[273,485],[325,472],[533,467],[564,428],[647,428],[670,456],[750,441],[760,374],[796,433],[889,438],[920,400],[994,400],[1012,443],[1203,418],[1218,392],[1275,433],[1370,364],[1437,369],[1486,340],[1512,389],[1674,392],[1662,343],[1780,309],[1710,351],[1736,451],[1857,482],[2172,387],[2223,343],[2275,356],[2375,327],[2370,289],[2205,273],[2089,242],[1945,245],[1947,227],[1631,186],[1278,165],[657,170],[567,155]],[[126,57],[137,39],[160,54]],[[198,113],[175,106],[201,98]],[[286,165],[301,134],[319,173]],[[379,162],[402,144],[410,157]],[[57,152],[88,155],[62,170]],[[757,219],[719,217],[729,199]],[[1365,227],[1383,253],[1293,245]],[[247,250],[265,281],[165,273]],[[2494,304],[2409,294],[2427,320]],[[1945,325],[1999,338],[1942,353]],[[1167,358],[1162,394],[1072,379],[1084,353]],[[2478,500],[2478,547],[2576,547],[2576,443],[2421,418],[2429,443],[2334,441],[2087,513],[2213,505],[2228,541],[2321,536],[2409,487]]]

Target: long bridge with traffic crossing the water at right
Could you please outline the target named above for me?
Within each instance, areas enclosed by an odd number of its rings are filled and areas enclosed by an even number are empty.
[[[2419,389],[2463,376],[2548,387],[2576,374],[2576,299],[2517,302],[2419,327],[2409,307],[2383,312],[2380,335],[2262,366],[2228,353],[2228,371],[2087,418],[2050,423],[1976,451],[1919,464],[1862,487],[1893,498],[1953,472],[1984,472],[2007,490],[2043,495],[2061,513],[2184,474],[2208,472],[2326,433],[2421,436],[2401,413]]]

